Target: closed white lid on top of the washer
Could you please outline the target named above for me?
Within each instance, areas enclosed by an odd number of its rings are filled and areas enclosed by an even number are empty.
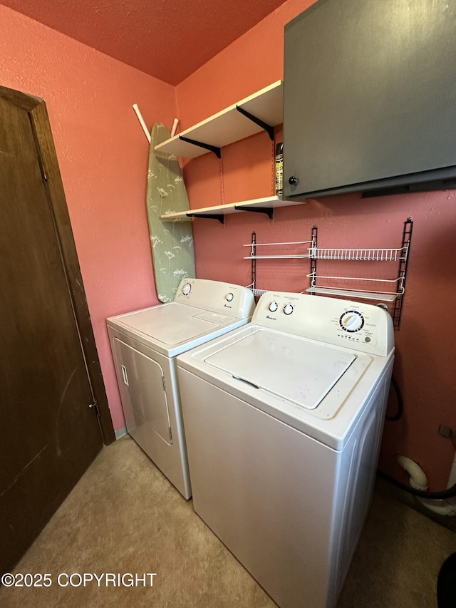
[[[204,359],[233,378],[315,409],[356,355],[299,336],[259,329]]]

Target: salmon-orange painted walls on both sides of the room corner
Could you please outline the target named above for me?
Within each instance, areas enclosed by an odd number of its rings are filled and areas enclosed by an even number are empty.
[[[145,215],[148,145],[131,106],[138,103],[147,125],[170,126],[177,115],[183,130],[283,78],[284,25],[310,4],[287,0],[176,88],[0,5],[0,83],[46,100],[115,430],[124,423],[105,317],[157,303]],[[184,161],[190,204],[271,195],[273,158],[274,146],[261,133],[225,148],[221,162],[211,154]],[[272,221],[244,213],[227,216],[223,226],[193,222],[197,276],[249,284],[242,245],[252,230],[259,242],[294,241],[318,225],[321,247],[398,247],[403,222],[413,217],[395,331],[394,373],[405,412],[385,423],[380,466],[405,480],[395,464],[403,453],[420,463],[432,489],[445,487],[454,455],[437,428],[456,428],[455,203],[455,190],[348,195],[276,210]],[[308,270],[300,260],[259,264],[257,287],[300,291]]]

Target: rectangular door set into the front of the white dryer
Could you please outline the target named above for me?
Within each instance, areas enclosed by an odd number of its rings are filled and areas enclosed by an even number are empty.
[[[162,367],[117,337],[113,344],[128,433],[145,453],[150,453],[150,445],[156,441],[152,433],[171,445],[170,413]]]

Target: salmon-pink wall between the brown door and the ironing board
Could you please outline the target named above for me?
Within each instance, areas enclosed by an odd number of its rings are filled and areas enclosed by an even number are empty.
[[[105,318],[157,304],[145,208],[147,125],[172,125],[161,81],[0,6],[0,83],[43,98],[115,430],[122,407]]]

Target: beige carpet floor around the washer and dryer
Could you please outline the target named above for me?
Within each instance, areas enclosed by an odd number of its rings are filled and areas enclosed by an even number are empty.
[[[456,532],[383,485],[338,608],[434,608],[437,574],[456,552]],[[51,584],[0,587],[2,608],[276,606],[129,437],[103,449],[14,572],[49,574],[43,583]],[[147,576],[135,587],[106,586],[105,578],[98,586],[95,579],[83,584],[83,573]]]

